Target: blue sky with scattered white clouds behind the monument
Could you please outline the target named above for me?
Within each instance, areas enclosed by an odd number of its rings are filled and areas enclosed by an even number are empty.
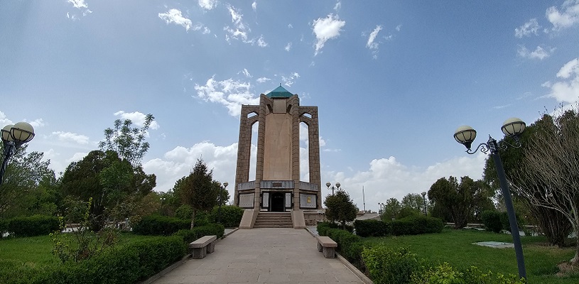
[[[480,143],[577,102],[578,47],[579,0],[1,1],[0,126],[31,122],[29,151],[61,172],[150,113],[155,190],[201,156],[232,183],[241,104],[282,84],[319,109],[323,183],[377,210],[481,177],[458,126]]]

